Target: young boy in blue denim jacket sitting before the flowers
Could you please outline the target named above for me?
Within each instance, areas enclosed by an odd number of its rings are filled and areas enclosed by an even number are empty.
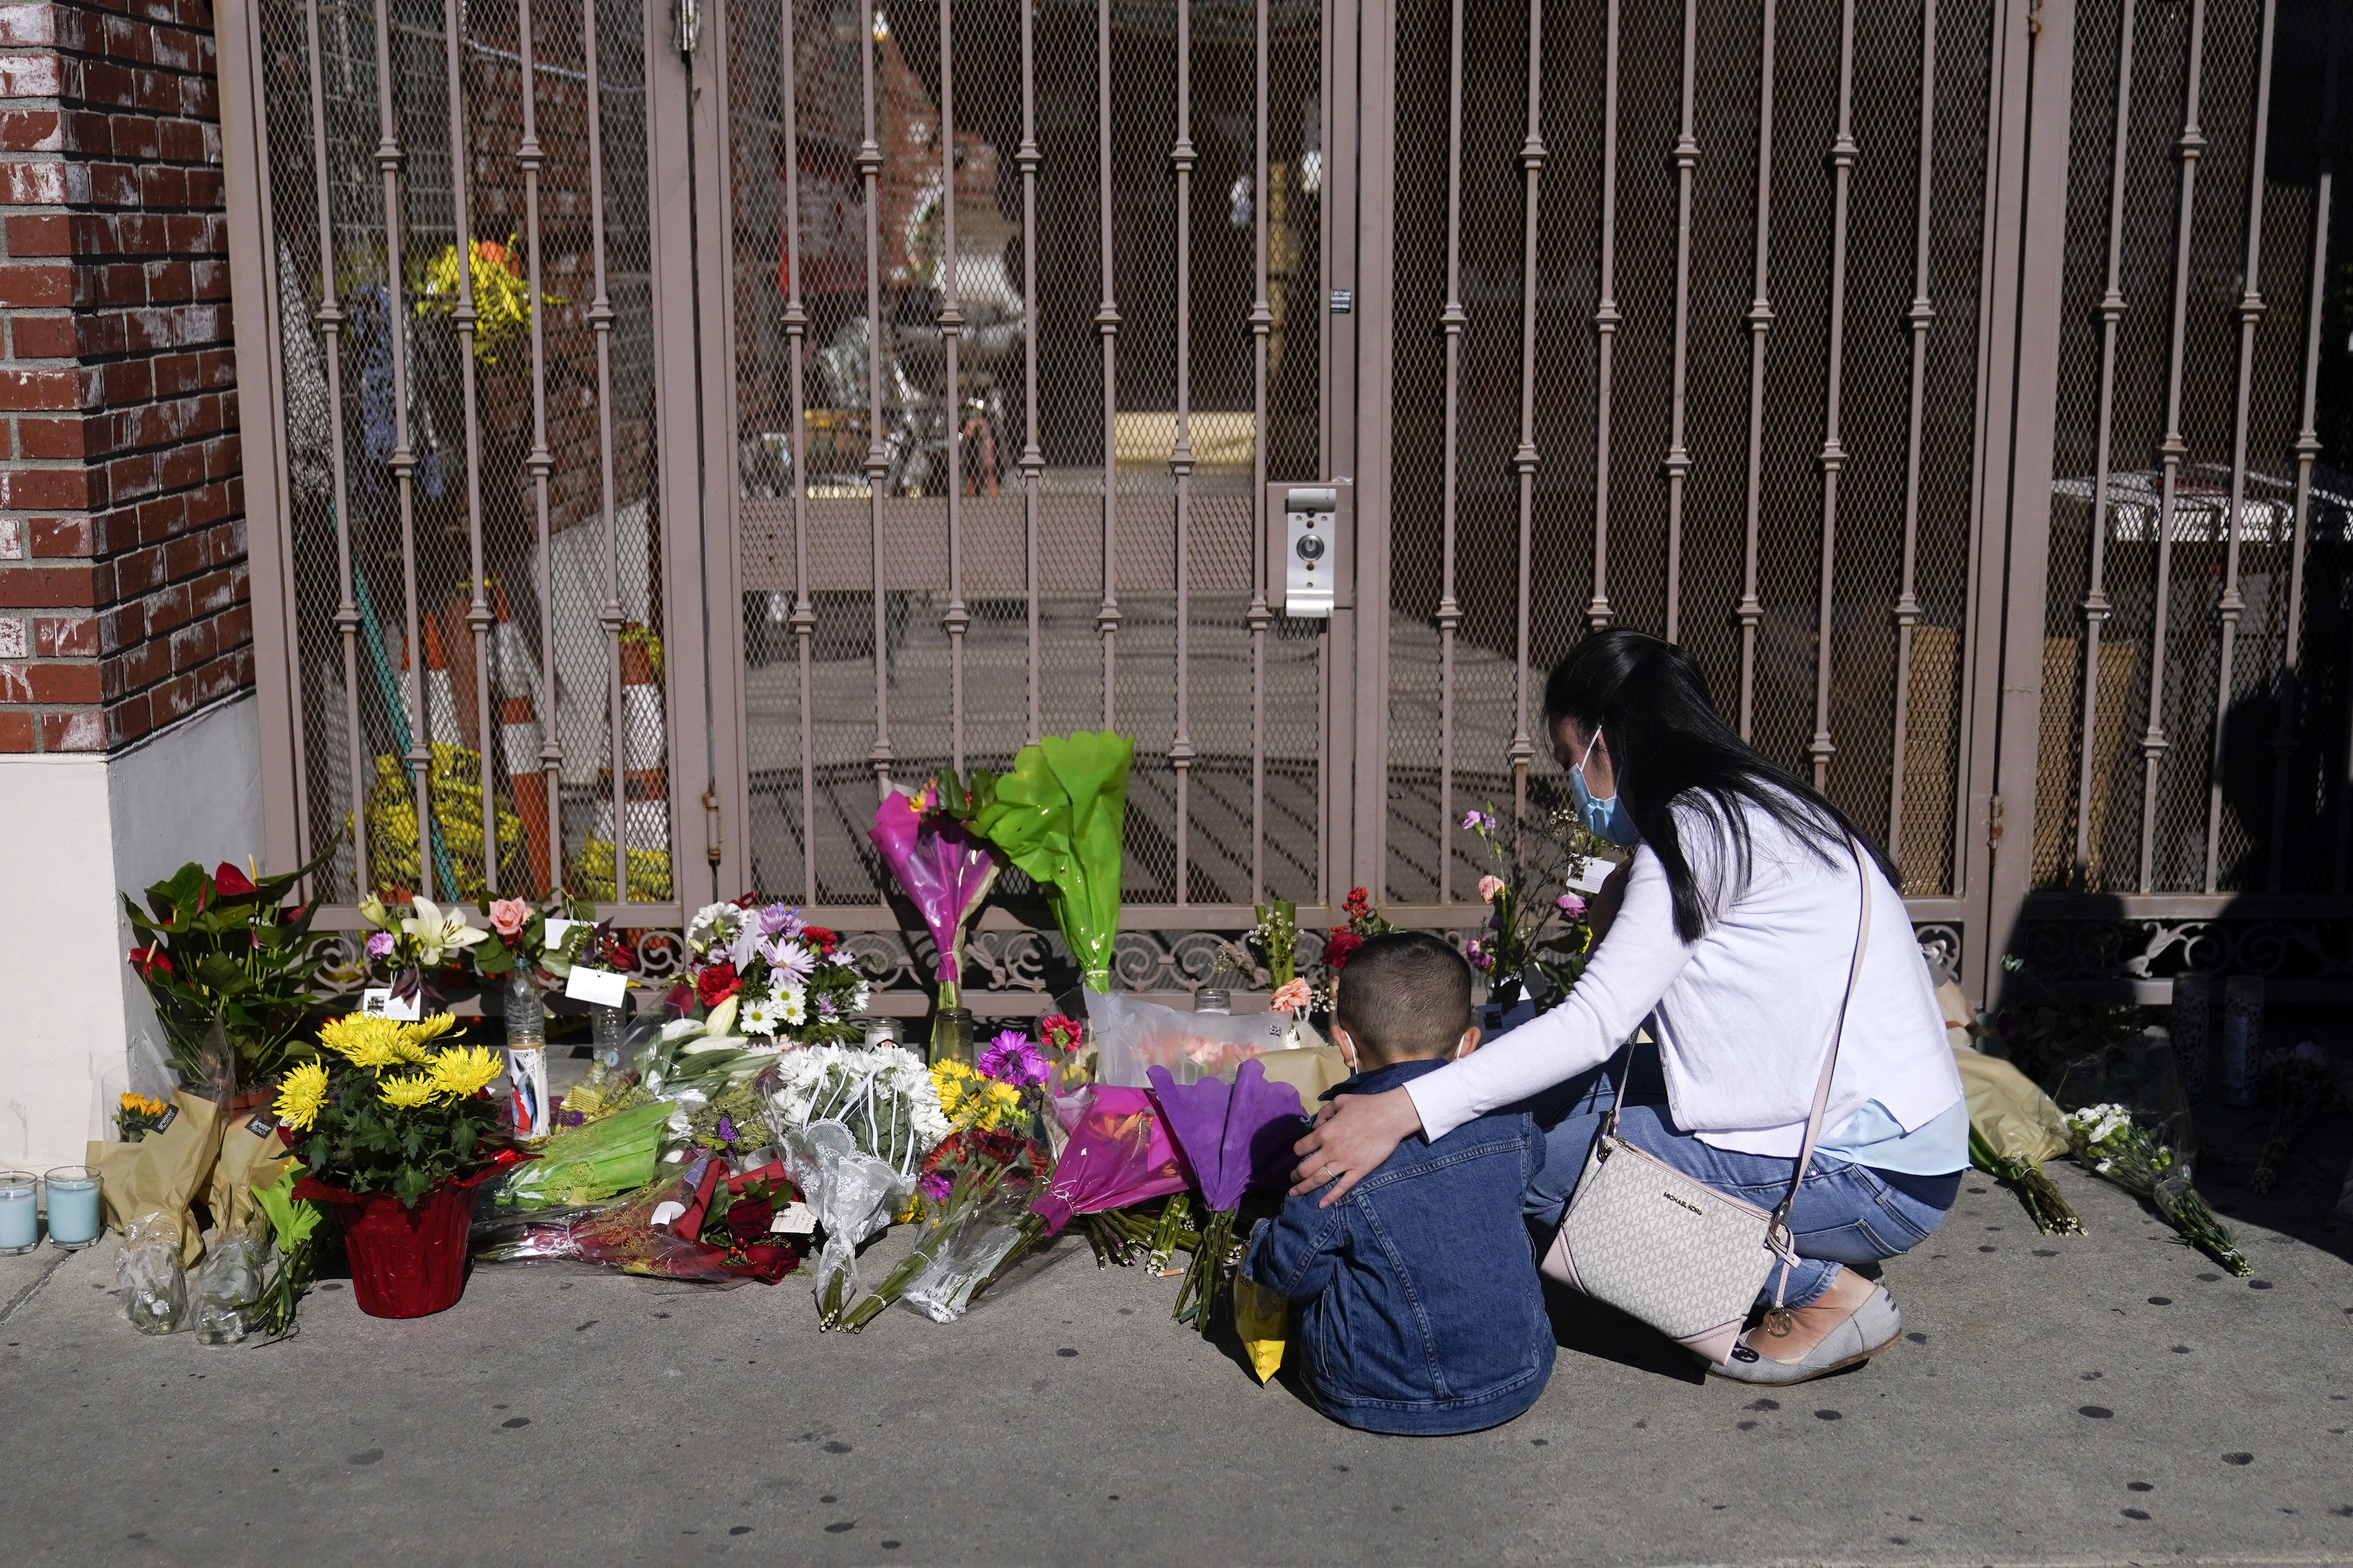
[[[1332,1020],[1351,1077],[1381,1093],[1478,1046],[1471,966],[1424,931],[1348,957]],[[1285,1199],[1242,1272],[1292,1302],[1297,1366],[1327,1415],[1365,1432],[1478,1432],[1537,1403],[1553,1326],[1520,1194],[1544,1166],[1525,1112],[1398,1145],[1332,1208]]]

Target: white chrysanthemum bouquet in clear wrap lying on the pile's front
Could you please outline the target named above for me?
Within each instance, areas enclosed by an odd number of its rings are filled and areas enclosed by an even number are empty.
[[[762,1084],[784,1166],[826,1234],[816,1321],[833,1328],[859,1295],[859,1244],[889,1225],[953,1128],[929,1067],[904,1046],[786,1051]]]

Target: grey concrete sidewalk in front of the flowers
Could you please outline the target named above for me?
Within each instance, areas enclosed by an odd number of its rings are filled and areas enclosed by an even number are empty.
[[[1257,1387],[1169,1324],[1176,1281],[1082,1248],[948,1328],[819,1335],[800,1276],[506,1267],[405,1324],[329,1284],[292,1342],[221,1349],[132,1333],[113,1241],[42,1251],[0,1260],[0,1556],[2353,1563],[2344,1159],[2339,1119],[2252,1199],[2209,1154],[2252,1281],[2075,1166],[2087,1237],[1972,1178],[1889,1267],[1908,1342],[1781,1394],[1565,1300],[1544,1401],[1426,1441]]]

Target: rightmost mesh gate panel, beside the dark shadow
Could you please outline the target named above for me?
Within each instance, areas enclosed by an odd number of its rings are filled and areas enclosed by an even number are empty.
[[[2202,31],[2179,5],[2078,16],[2038,886],[2329,886],[2339,719],[2320,703],[2341,703],[2353,501],[2327,463],[2308,480],[2306,604],[2289,602],[2329,40],[2318,12],[2282,7],[2266,127],[2264,9],[2207,5]],[[2306,703],[2282,712],[2289,616]]]

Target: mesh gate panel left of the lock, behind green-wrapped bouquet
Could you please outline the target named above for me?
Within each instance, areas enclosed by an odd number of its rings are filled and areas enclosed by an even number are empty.
[[[1266,14],[1264,190],[1252,5],[1195,5],[1184,73],[1174,5],[727,16],[758,886],[887,919],[878,788],[1108,724],[1136,738],[1132,903],[1313,898],[1322,637],[1249,604],[1259,447],[1315,477],[1318,7]]]

